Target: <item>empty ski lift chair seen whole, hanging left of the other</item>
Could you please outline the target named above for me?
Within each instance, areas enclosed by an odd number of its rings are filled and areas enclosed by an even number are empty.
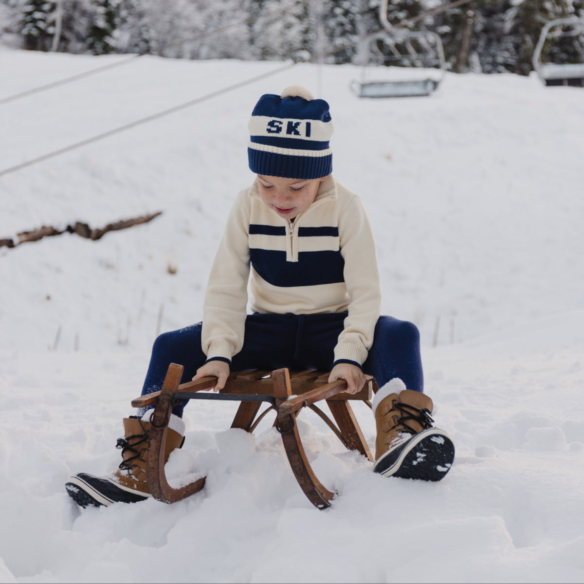
[[[412,31],[391,25],[387,19],[388,0],[381,0],[379,7],[379,20],[384,30],[371,38],[372,53],[383,65],[377,67],[363,66],[361,81],[352,81],[350,88],[360,98],[404,98],[414,96],[427,96],[436,91],[446,72],[446,60],[442,40],[438,34],[430,31]],[[387,67],[384,63],[384,54],[378,48],[381,43],[385,50],[391,53],[390,60],[411,63],[423,63],[426,67],[413,65],[409,67]],[[417,48],[417,50],[416,50]],[[427,67],[428,63],[432,65]],[[368,69],[375,69],[378,75],[384,71],[384,79],[367,80]],[[412,72],[416,71],[417,75]],[[429,69],[437,72],[437,75],[429,75]],[[387,72],[398,73],[398,77],[387,77]],[[404,74],[405,72],[405,74]],[[420,72],[423,76],[420,77]],[[378,75],[378,77],[381,77]]]

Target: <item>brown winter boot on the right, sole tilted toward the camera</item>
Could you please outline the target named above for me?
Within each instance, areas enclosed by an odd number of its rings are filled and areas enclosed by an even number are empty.
[[[374,472],[439,481],[450,470],[454,444],[447,432],[432,426],[432,399],[427,395],[406,390],[395,378],[377,392],[373,413],[377,425]]]

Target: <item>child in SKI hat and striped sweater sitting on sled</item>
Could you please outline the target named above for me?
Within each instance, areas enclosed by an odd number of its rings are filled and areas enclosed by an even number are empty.
[[[380,317],[380,277],[361,199],[331,175],[329,106],[300,85],[263,95],[249,121],[249,168],[256,173],[227,220],[209,277],[203,322],[158,337],[142,395],[158,391],[170,363],[190,378],[232,370],[331,370],[347,391],[380,387],[373,400],[381,475],[440,480],[449,470],[450,436],[432,427],[415,325]],[[250,276],[251,273],[251,276]],[[248,282],[253,314],[246,315]],[[173,409],[165,459],[182,446],[183,405]],[[82,506],[150,496],[145,454],[150,411],[124,419],[119,470],[80,473],[67,491]]]

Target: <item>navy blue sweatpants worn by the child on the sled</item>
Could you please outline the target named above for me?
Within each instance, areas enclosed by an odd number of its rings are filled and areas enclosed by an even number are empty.
[[[244,346],[231,360],[231,370],[319,369],[330,371],[333,350],[343,330],[346,312],[329,314],[250,314]],[[201,349],[201,323],[160,335],[152,347],[142,395],[158,391],[169,364],[185,367],[181,383],[190,381],[207,357]],[[382,387],[394,377],[408,390],[423,391],[420,335],[416,325],[380,317],[363,371]],[[173,413],[182,417],[183,405]]]

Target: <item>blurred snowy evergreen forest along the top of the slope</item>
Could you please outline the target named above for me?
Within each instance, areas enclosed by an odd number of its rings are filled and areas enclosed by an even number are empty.
[[[94,55],[411,65],[376,35],[381,1],[0,0],[0,43]],[[387,7],[397,30],[437,33],[446,68],[460,73],[529,75],[541,29],[567,17],[584,19],[584,0],[389,0]],[[547,61],[583,62],[584,34],[550,42],[544,53]]]

